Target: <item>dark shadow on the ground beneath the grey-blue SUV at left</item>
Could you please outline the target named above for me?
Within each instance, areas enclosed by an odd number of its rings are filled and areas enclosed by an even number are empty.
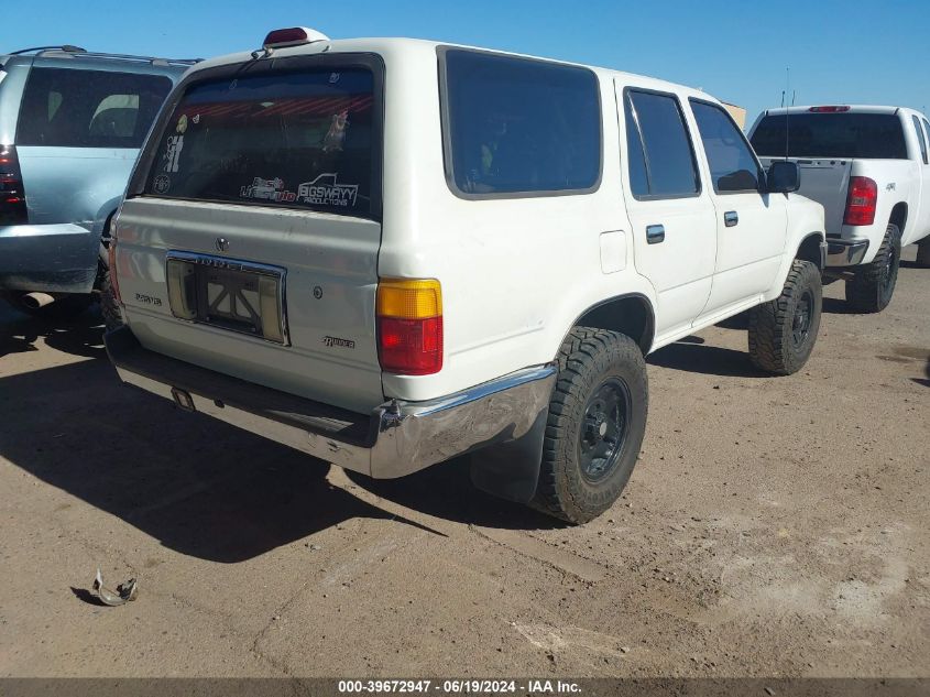
[[[97,307],[70,320],[39,319],[0,301],[0,359],[10,353],[37,351],[40,341],[73,356],[100,358],[106,355],[103,319]]]

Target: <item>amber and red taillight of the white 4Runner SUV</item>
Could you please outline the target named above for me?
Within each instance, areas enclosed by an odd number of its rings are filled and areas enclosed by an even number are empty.
[[[442,291],[434,279],[378,283],[378,358],[381,369],[429,375],[442,368]]]

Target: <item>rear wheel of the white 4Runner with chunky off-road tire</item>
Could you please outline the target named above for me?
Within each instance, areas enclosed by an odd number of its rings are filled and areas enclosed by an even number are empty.
[[[633,339],[576,327],[559,350],[532,505],[569,523],[606,511],[630,480],[646,432],[646,362]]]

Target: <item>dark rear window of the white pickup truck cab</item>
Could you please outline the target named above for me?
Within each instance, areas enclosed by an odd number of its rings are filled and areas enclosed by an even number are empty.
[[[759,121],[752,143],[763,157],[784,157],[787,143],[789,157],[907,160],[904,129],[893,113],[767,116]]]

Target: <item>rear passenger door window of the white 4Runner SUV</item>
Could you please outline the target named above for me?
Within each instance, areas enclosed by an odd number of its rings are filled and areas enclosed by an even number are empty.
[[[627,89],[626,143],[630,184],[637,198],[696,196],[700,178],[694,152],[672,95]]]

